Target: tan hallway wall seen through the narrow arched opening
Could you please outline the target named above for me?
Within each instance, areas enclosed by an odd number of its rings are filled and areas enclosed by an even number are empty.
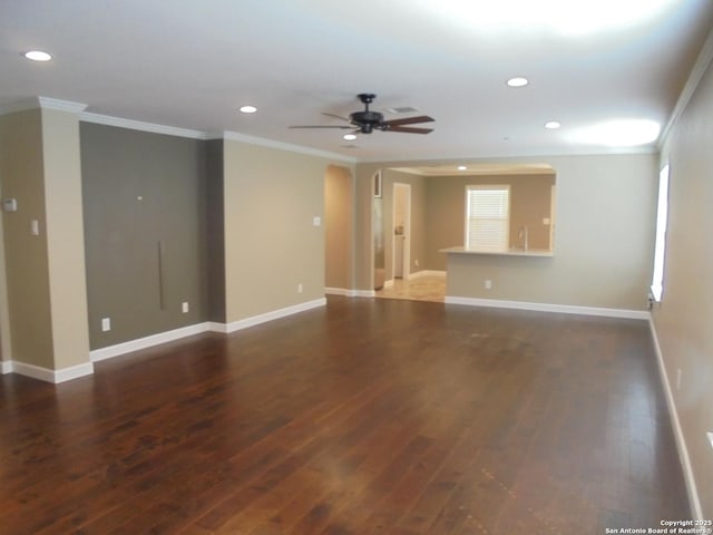
[[[324,285],[352,289],[353,179],[350,169],[330,165],[324,176]]]

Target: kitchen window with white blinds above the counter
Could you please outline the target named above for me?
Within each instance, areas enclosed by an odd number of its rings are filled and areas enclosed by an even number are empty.
[[[466,186],[466,249],[501,252],[510,234],[510,186]]]

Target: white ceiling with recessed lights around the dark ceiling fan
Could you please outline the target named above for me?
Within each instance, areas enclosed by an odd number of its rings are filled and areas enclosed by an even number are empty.
[[[0,0],[0,109],[30,97],[87,113],[266,138],[359,160],[593,154],[612,119],[662,128],[713,27],[711,0]],[[544,8],[559,1],[555,14]],[[470,7],[471,12],[459,9]],[[567,25],[576,6],[592,27]],[[498,12],[496,9],[506,8]],[[537,7],[537,11],[533,10]],[[634,19],[639,14],[641,19]],[[602,27],[597,28],[597,23]],[[33,64],[21,52],[55,56]],[[530,84],[508,88],[512,76]],[[410,106],[429,135],[344,142],[322,115]],[[258,107],[254,115],[237,108]],[[408,115],[407,115],[408,116]],[[561,121],[558,130],[544,123]]]

